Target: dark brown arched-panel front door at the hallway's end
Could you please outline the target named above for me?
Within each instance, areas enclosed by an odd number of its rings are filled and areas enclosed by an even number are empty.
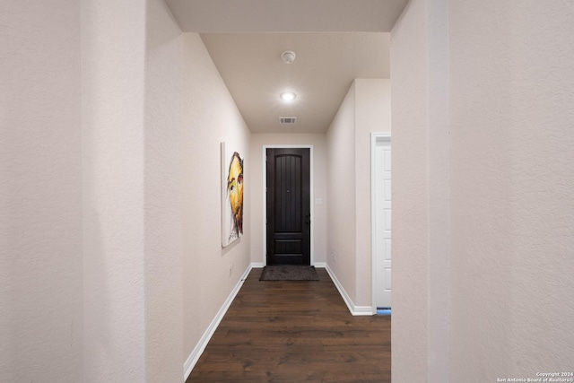
[[[310,265],[309,149],[267,149],[267,265]]]

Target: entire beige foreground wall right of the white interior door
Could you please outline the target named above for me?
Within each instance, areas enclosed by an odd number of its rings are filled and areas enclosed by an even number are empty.
[[[393,30],[394,381],[570,369],[573,14],[421,0]]]

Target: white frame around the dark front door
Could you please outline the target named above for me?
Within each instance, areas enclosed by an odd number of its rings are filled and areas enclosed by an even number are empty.
[[[265,161],[265,156],[267,154],[267,149],[309,149],[309,213],[311,214],[311,224],[310,224],[310,241],[309,241],[309,263],[310,265],[315,265],[315,251],[314,251],[314,225],[315,225],[315,214],[313,212],[313,145],[312,144],[264,144],[263,145],[263,265],[267,265],[267,198],[265,187],[267,187],[267,161]]]

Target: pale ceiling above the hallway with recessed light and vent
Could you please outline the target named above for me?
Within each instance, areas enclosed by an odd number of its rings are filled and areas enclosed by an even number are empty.
[[[408,0],[166,3],[184,32],[201,34],[251,132],[323,133],[353,79],[389,77],[388,32]],[[295,51],[292,64],[284,50]],[[290,104],[285,90],[297,93]]]

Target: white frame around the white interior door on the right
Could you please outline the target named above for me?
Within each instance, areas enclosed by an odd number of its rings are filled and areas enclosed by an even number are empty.
[[[377,150],[377,143],[381,141],[388,141],[391,142],[391,132],[372,132],[370,134],[370,252],[371,252],[371,261],[370,261],[370,269],[371,269],[371,304],[372,304],[372,313],[373,315],[377,314],[377,231],[376,229],[376,212],[375,207],[377,205],[376,200],[376,150]],[[391,149],[392,150],[392,149]],[[391,154],[392,155],[392,154]],[[392,166],[392,165],[391,165]],[[391,182],[393,179],[393,169],[391,168]],[[392,194],[392,192],[391,192]],[[391,205],[392,197],[391,197]],[[391,218],[392,220],[392,218]],[[392,225],[391,225],[392,227]],[[391,231],[392,232],[392,231]],[[392,235],[392,234],[391,234]],[[391,242],[391,248],[392,248]],[[391,249],[391,254],[392,254]],[[392,257],[392,256],[391,256]],[[392,294],[392,292],[391,292]]]

